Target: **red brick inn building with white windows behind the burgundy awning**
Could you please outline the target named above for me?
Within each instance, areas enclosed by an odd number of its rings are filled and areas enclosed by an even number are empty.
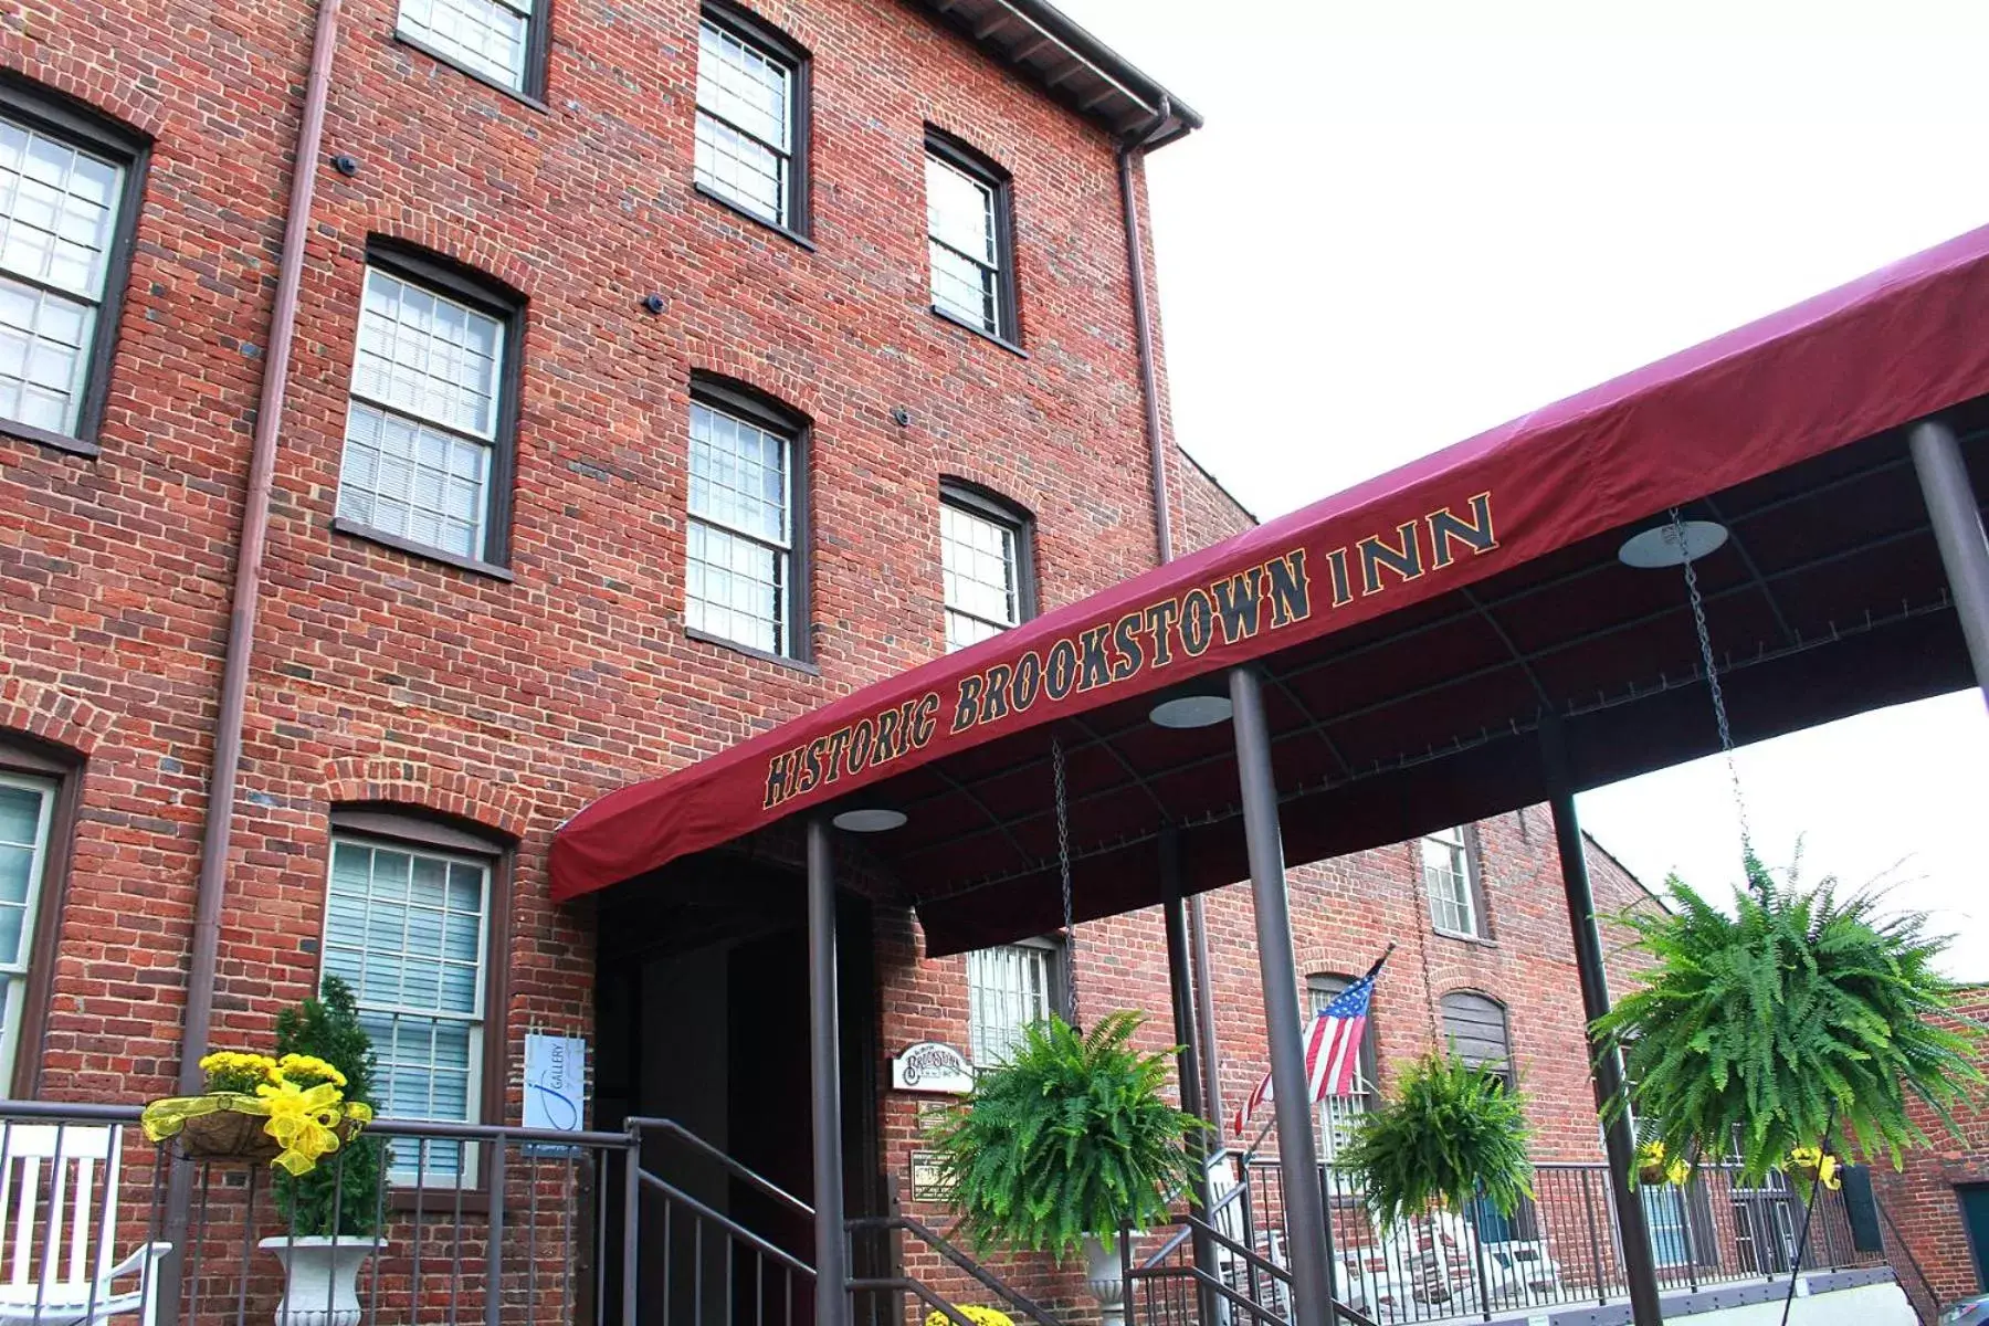
[[[203,972],[215,1046],[338,972],[390,1113],[515,1121],[525,1032],[569,1034],[597,1123],[676,1113],[806,1189],[780,863],[559,909],[551,833],[1156,559],[1134,143],[1199,121],[1006,0],[30,2],[0,66],[12,1093],[167,1093]],[[1183,543],[1247,521],[1174,479]],[[1378,1074],[1502,1008],[1543,1153],[1599,1155],[1543,815],[1301,881],[1295,976],[1400,942]],[[1247,907],[1207,905],[1229,1101]],[[971,980],[859,899],[847,936],[877,1203],[915,1147],[887,1056],[996,1036],[969,986],[996,1008],[1056,954]],[[1156,1044],[1160,954],[1132,914],[1076,956]]]

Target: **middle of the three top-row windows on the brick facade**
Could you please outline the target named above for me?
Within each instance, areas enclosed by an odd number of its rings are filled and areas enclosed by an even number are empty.
[[[698,22],[698,183],[772,225],[802,229],[800,52],[706,12]]]

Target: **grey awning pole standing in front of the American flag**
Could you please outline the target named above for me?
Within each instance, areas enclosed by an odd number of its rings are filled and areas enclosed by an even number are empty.
[[[1263,680],[1253,668],[1229,670],[1229,702],[1235,706],[1243,839],[1249,847],[1249,887],[1257,911],[1263,1022],[1271,1040],[1277,1153],[1285,1181],[1285,1237],[1291,1241],[1291,1322],[1331,1326],[1333,1248],[1327,1243],[1327,1207],[1319,1181],[1319,1149],[1313,1141],[1313,1095],[1305,1081],[1299,960],[1291,948],[1291,903],[1285,895],[1285,837],[1277,825],[1277,783],[1271,777]]]

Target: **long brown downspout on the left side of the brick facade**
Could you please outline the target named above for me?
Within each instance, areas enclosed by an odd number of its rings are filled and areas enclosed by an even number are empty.
[[[318,0],[318,26],[310,42],[304,113],[296,129],[290,175],[290,211],[282,225],[282,258],[276,268],[276,308],[269,322],[269,360],[257,400],[255,441],[249,451],[249,491],[243,497],[243,531],[235,549],[235,594],[221,662],[221,712],[215,718],[215,765],[207,779],[207,821],[201,829],[201,879],[193,895],[193,952],[187,960],[187,1020],[179,1038],[179,1093],[197,1095],[205,1085],[201,1058],[215,1022],[215,970],[221,956],[221,901],[227,887],[229,839],[243,759],[243,712],[249,702],[249,662],[255,650],[257,604],[263,598],[263,553],[269,545],[269,495],[276,477],[276,433],[282,427],[290,384],[290,342],[296,338],[296,294],[304,278],[304,243],[310,237],[310,203],[316,197],[318,151],[324,141],[324,101],[338,46],[340,0]]]

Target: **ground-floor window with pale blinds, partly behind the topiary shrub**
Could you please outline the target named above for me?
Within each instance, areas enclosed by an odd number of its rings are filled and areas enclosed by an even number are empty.
[[[382,1113],[473,1123],[483,1101],[487,857],[352,833],[332,837],[324,974],[352,986],[378,1056]],[[394,1183],[473,1181],[457,1143],[394,1143]]]

